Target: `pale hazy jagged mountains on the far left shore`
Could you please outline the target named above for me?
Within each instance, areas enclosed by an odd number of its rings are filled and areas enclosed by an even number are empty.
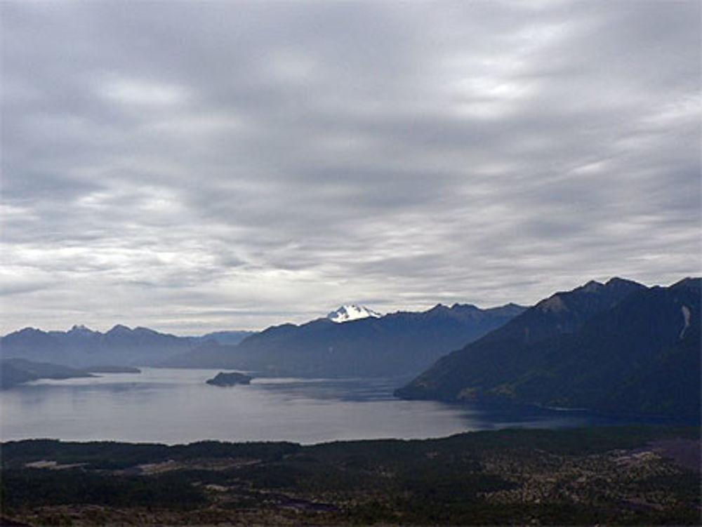
[[[76,367],[149,366],[192,347],[190,338],[119,324],[106,333],[85,326],[73,326],[69,331],[24,328],[0,340],[4,359],[15,357]]]

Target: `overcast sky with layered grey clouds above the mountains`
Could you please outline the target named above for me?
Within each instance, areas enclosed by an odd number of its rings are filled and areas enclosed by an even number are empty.
[[[698,275],[700,9],[2,0],[0,333]]]

